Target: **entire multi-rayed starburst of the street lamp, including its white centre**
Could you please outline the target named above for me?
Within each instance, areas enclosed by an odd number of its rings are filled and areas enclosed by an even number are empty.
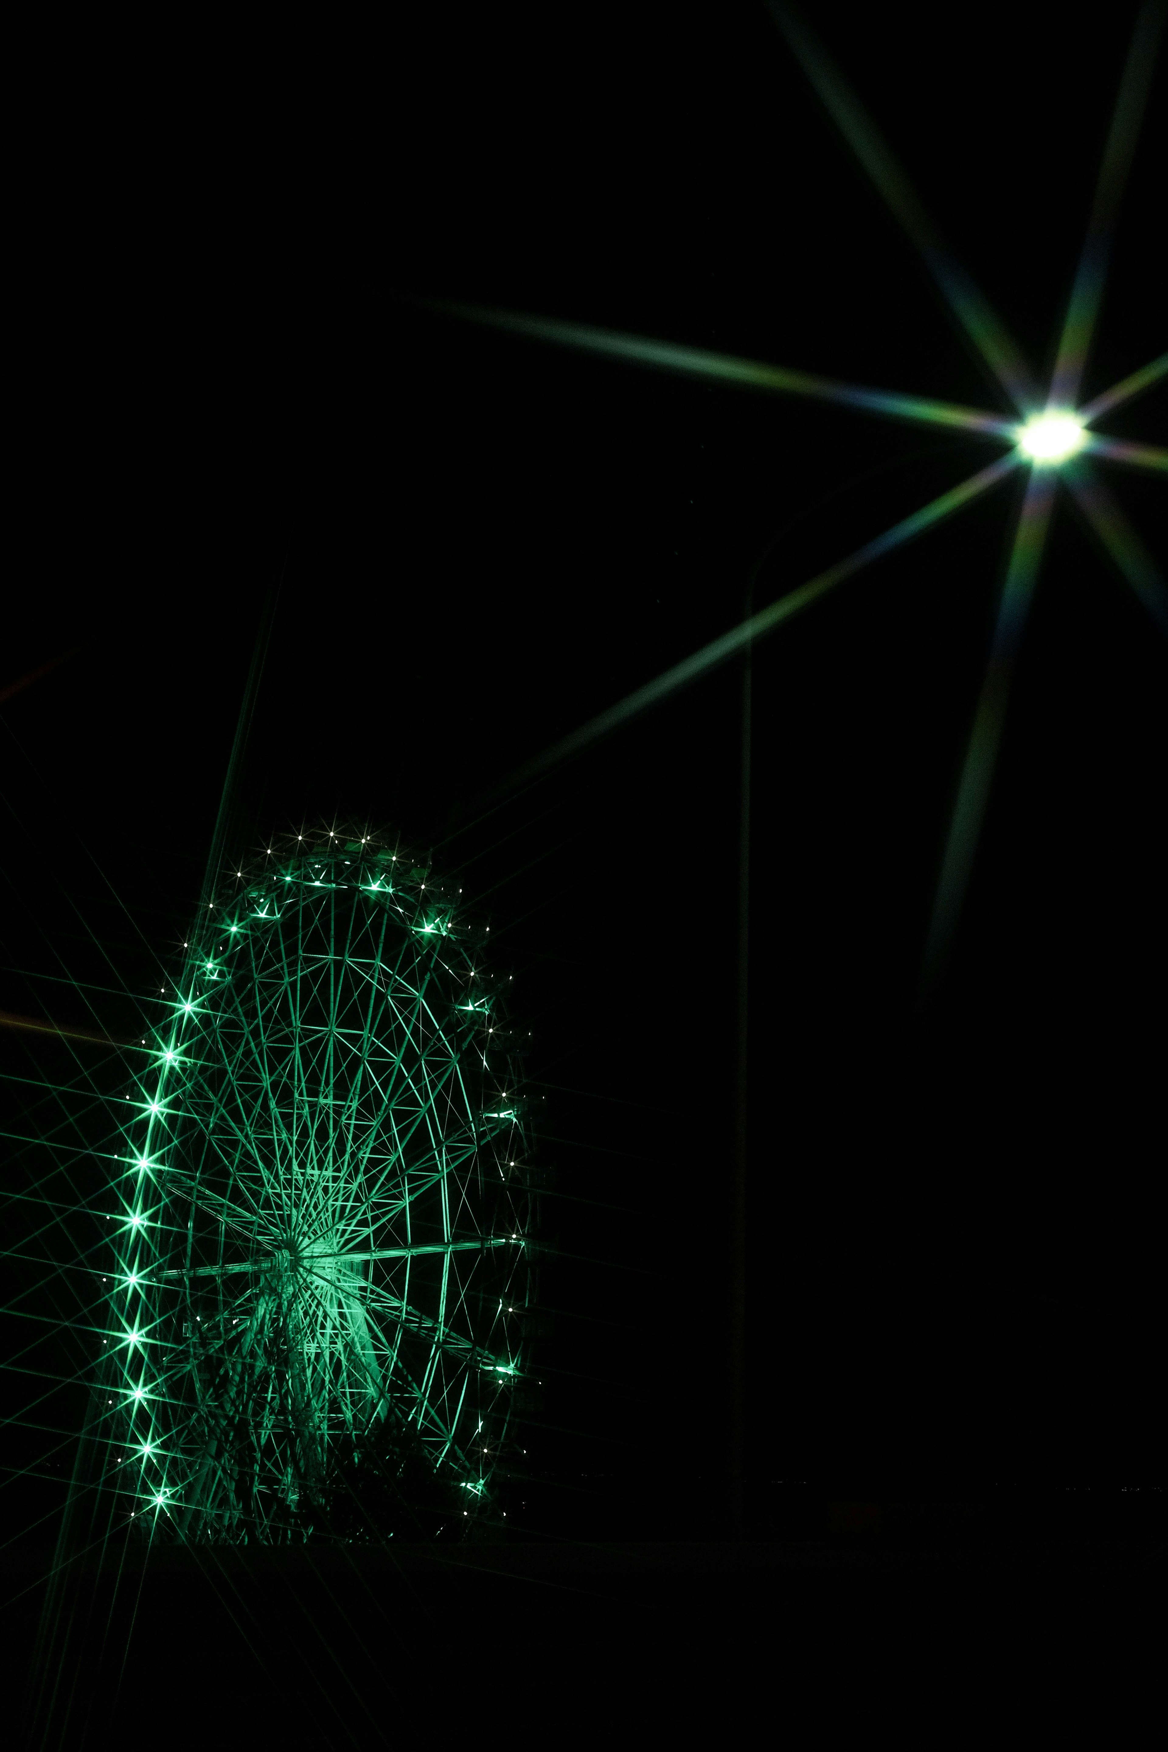
[[[1150,72],[1156,44],[1163,28],[1163,0],[1147,0],[1124,63],[1121,88],[1112,116],[1103,163],[1096,182],[1087,237],[1072,284],[1066,305],[1056,364],[1047,396],[1035,385],[1030,366],[1021,350],[1012,342],[1005,326],[998,321],[988,301],[968,279],[968,275],[949,258],[940,245],[937,233],[925,215],[911,184],[879,137],[870,117],[851,93],[837,68],[830,63],[823,49],[814,42],[806,26],[793,18],[781,0],[769,0],[772,16],[785,33],[804,74],[816,89],[825,109],[839,126],[841,133],[860,159],[860,165],[876,184],[883,200],[900,221],[911,240],[916,244],[925,263],[933,273],[946,301],[975,343],[984,363],[995,373],[1005,392],[1023,415],[1023,424],[1007,422],[995,413],[977,408],[960,406],[947,401],[933,401],[919,396],[904,396],[883,389],[869,389],[856,384],[841,384],[834,378],[818,377],[807,371],[793,371],[783,366],[763,364],[753,359],[707,352],[672,342],[646,340],[636,335],[615,333],[609,329],[564,322],[550,317],[534,317],[517,312],[489,310],[464,303],[426,303],[427,308],[466,321],[490,324],[534,340],[546,340],[564,347],[608,354],[629,363],[644,364],[657,370],[676,371],[688,377],[735,384],[751,389],[763,389],[779,394],[809,396],[823,401],[860,408],[886,419],[919,420],[932,426],[963,429],[995,440],[1007,440],[1012,454],[1002,457],[982,475],[974,477],[953,494],[905,519],[886,531],[876,541],[860,548],[849,559],[828,568],[820,576],[788,592],[770,608],[734,627],[730,632],[713,639],[700,652],[674,664],[672,669],[655,682],[636,689],[623,701],[599,713],[571,736],[564,738],[543,755],[536,757],[510,781],[499,787],[511,790],[517,783],[531,781],[555,766],[559,760],[583,750],[601,736],[625,724],[637,713],[657,704],[674,690],[688,685],[720,662],[734,657],[751,639],[760,638],[781,620],[799,613],[804,606],[830,590],[842,578],[851,576],[879,554],[909,540],[932,522],[947,515],[958,503],[965,503],[974,492],[991,485],[1021,461],[1030,461],[1031,478],[1026,487],[1023,512],[1014,534],[1014,547],[1002,590],[998,624],[995,631],[989,666],[982,683],[974,727],[958,787],[958,799],[946,844],[940,881],[930,927],[925,985],[928,985],[946,957],[949,939],[961,908],[974,853],[981,834],[989,783],[996,762],[1002,725],[1005,718],[1010,675],[1017,653],[1030,601],[1033,596],[1042,548],[1051,522],[1056,478],[1066,475],[1068,487],[1075,494],[1087,522],[1114,559],[1129,587],[1147,606],[1156,620],[1164,624],[1164,603],[1168,594],[1150,557],[1142,547],[1135,531],[1128,526],[1119,506],[1114,505],[1101,482],[1086,468],[1086,457],[1105,463],[1121,463],[1131,468],[1168,471],[1168,450],[1156,445],[1133,443],[1129,440],[1110,438],[1087,431],[1087,426],[1119,406],[1124,401],[1149,389],[1168,371],[1168,354],[1152,359],[1149,364],[1129,373],[1110,389],[1098,394],[1084,406],[1075,406],[1082,373],[1086,368],[1094,324],[1098,319],[1110,235],[1119,198],[1131,166],[1140,119],[1147,103]],[[1061,429],[1059,429],[1061,427]]]

